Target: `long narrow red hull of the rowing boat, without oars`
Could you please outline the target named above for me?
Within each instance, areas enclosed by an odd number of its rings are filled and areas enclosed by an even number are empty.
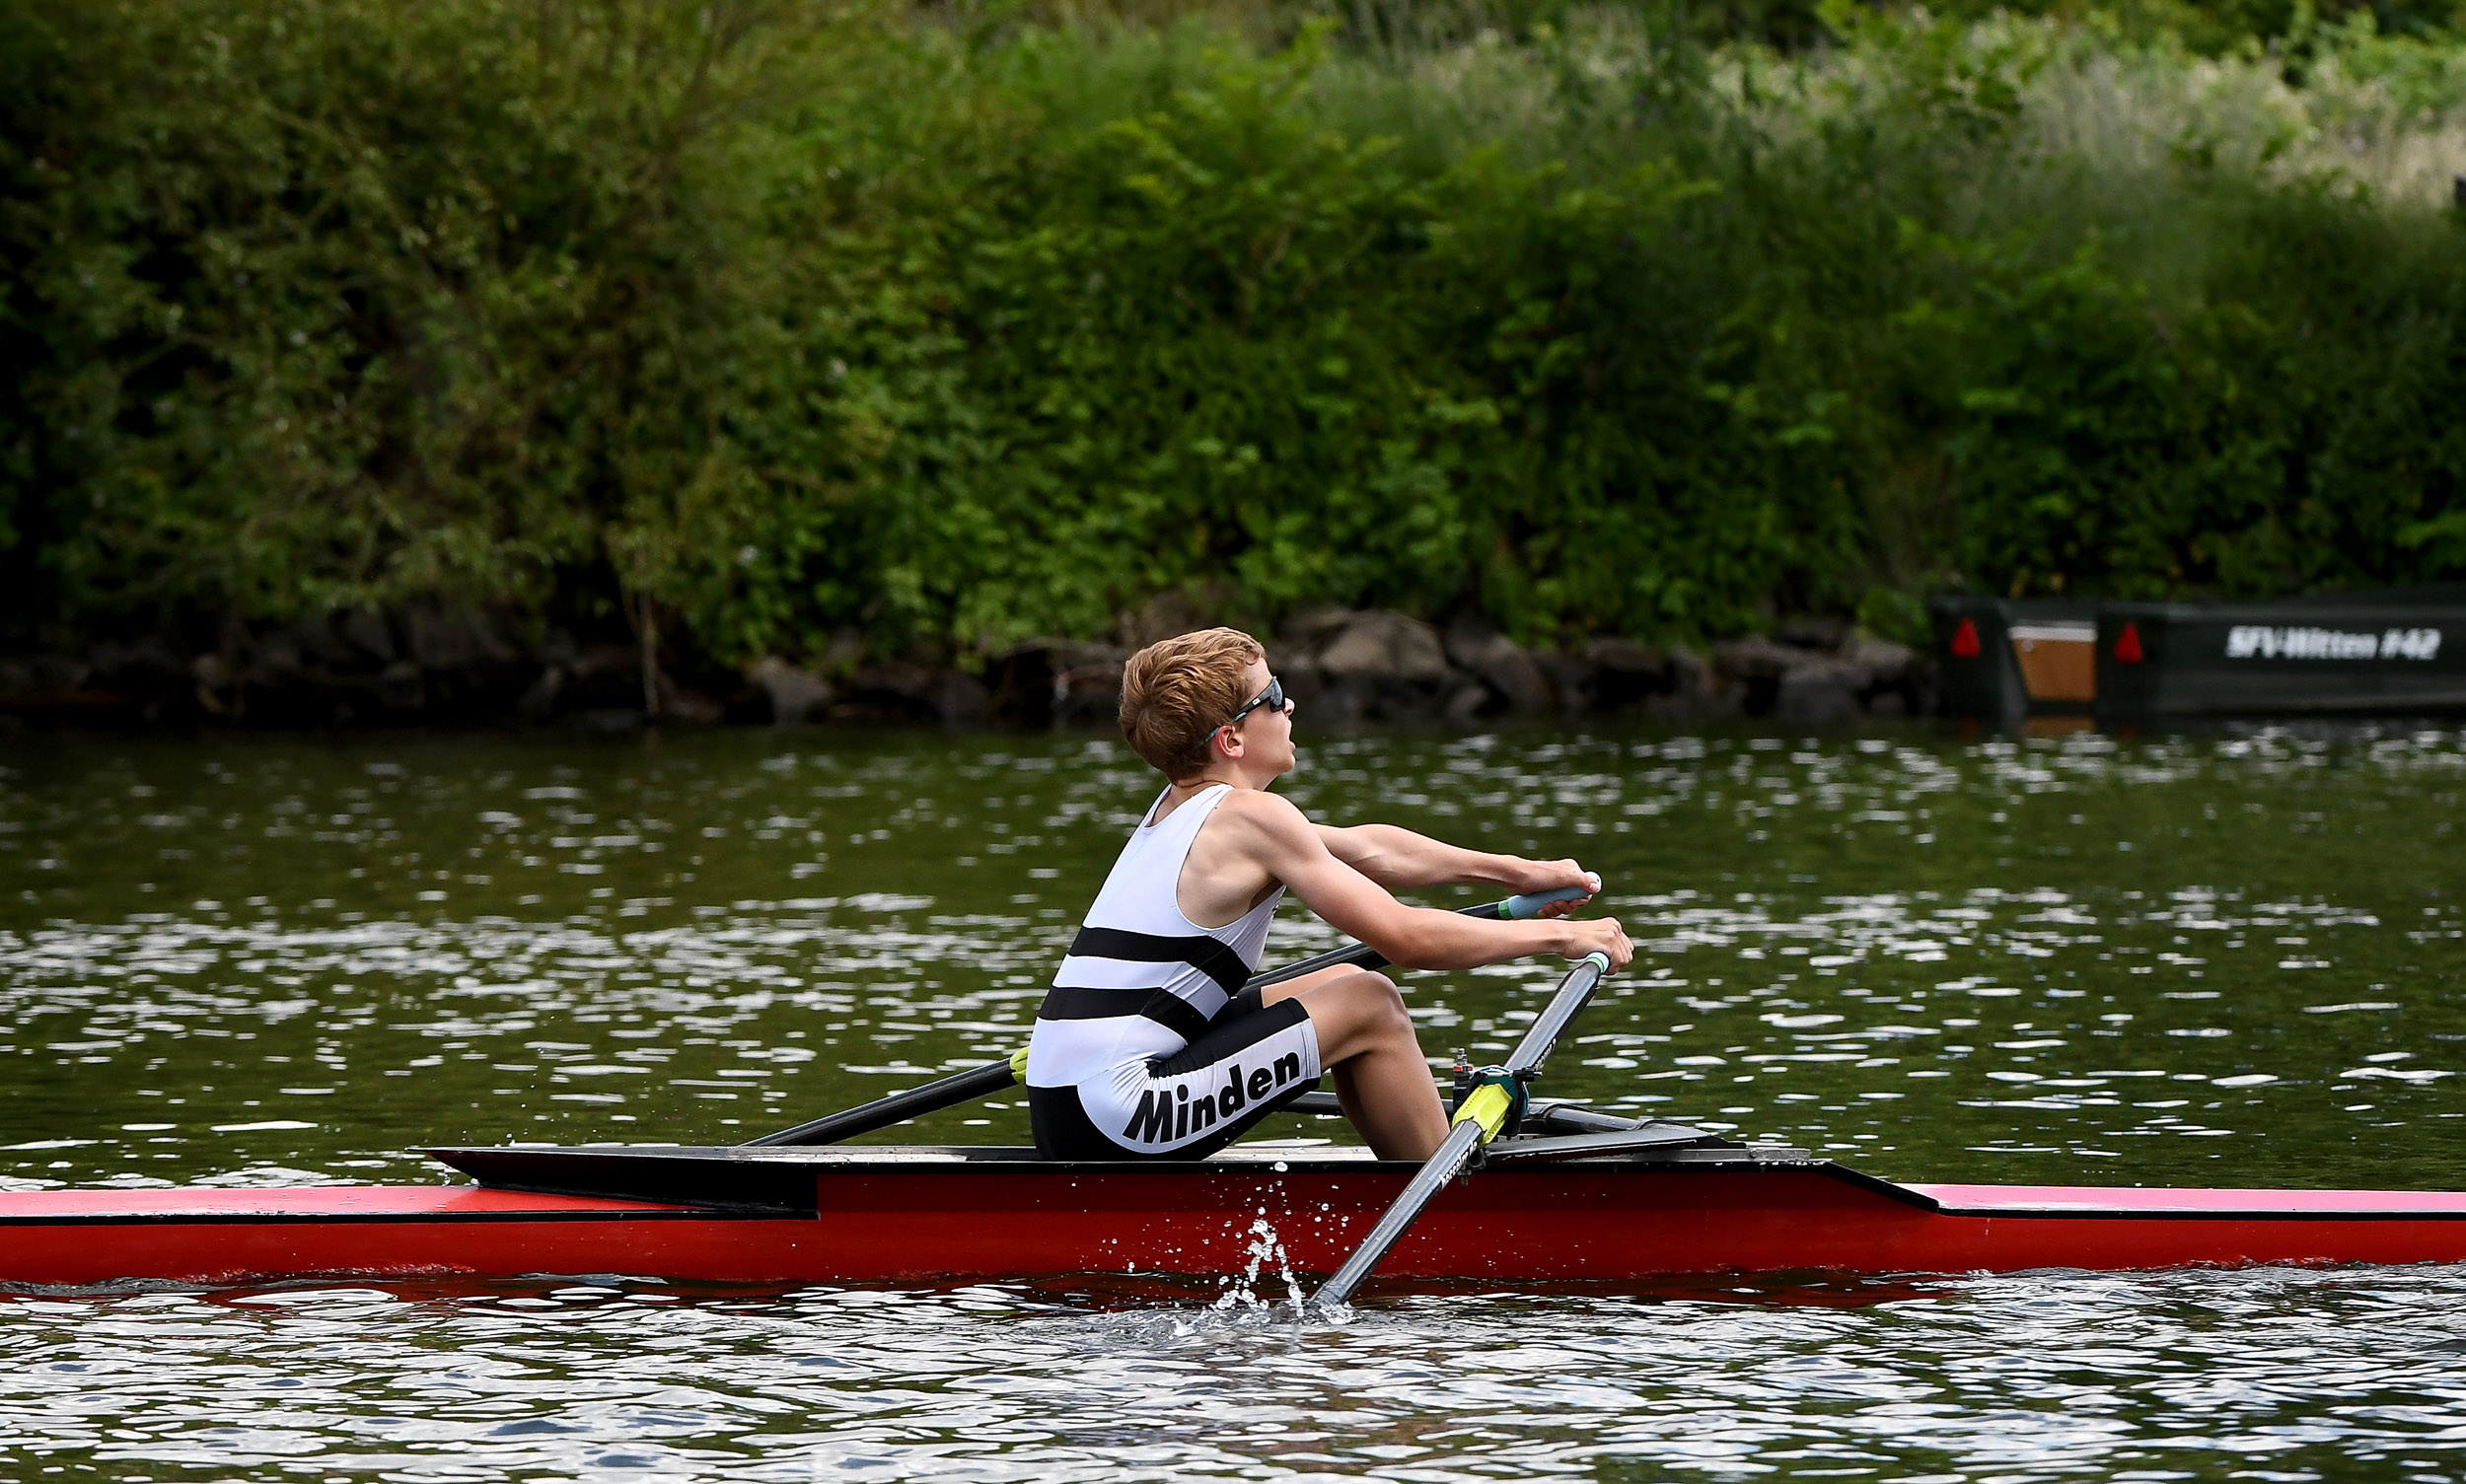
[[[853,1154],[853,1151],[851,1151]],[[0,1282],[641,1274],[740,1284],[1329,1272],[1413,1166],[809,1161],[801,1210],[439,1186],[0,1196]],[[799,1203],[801,1205],[801,1203]],[[2466,1196],[1894,1186],[1825,1161],[1586,1161],[1452,1186],[1386,1279],[2461,1262]]]

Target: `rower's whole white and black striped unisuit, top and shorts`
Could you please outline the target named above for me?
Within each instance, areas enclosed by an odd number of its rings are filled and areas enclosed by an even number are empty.
[[[1181,915],[1181,863],[1216,784],[1122,846],[1028,1038],[1028,1122],[1046,1159],[1201,1159],[1319,1085],[1300,1001],[1243,984],[1285,887],[1223,927]]]

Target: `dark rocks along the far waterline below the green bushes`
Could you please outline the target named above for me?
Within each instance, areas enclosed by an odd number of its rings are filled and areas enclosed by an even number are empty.
[[[1709,648],[1593,638],[1524,648],[1475,616],[1438,626],[1383,609],[1312,611],[1272,641],[1287,693],[1319,725],[1497,717],[1773,717],[1850,722],[1936,710],[1933,668],[1840,621],[1795,621]],[[651,722],[1105,725],[1127,643],[1031,641],[981,671],[866,661],[848,636],[816,663],[742,673],[646,661],[631,641],[562,629],[520,638],[491,616],[412,606],[232,631],[205,653],[160,638],[0,656],[0,720],[247,730]]]

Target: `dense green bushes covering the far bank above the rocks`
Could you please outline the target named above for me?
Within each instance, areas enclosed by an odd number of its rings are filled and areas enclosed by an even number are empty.
[[[1295,15],[0,0],[0,614],[967,658],[2466,572],[2439,35]]]

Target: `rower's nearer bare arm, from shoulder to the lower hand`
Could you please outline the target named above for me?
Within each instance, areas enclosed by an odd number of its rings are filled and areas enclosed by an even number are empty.
[[[1618,924],[1531,919],[1497,922],[1408,907],[1376,880],[1342,860],[1319,838],[1300,809],[1275,794],[1235,794],[1218,806],[1218,818],[1235,826],[1228,846],[1250,855],[1270,878],[1285,883],[1312,912],[1337,932],[1351,934],[1401,969],[1472,969],[1531,954],[1586,954],[1615,934]],[[1208,828],[1216,828],[1211,821]],[[1403,831],[1398,831],[1403,833]],[[1620,949],[1625,939],[1618,939]],[[1615,954],[1618,961],[1625,954]]]

